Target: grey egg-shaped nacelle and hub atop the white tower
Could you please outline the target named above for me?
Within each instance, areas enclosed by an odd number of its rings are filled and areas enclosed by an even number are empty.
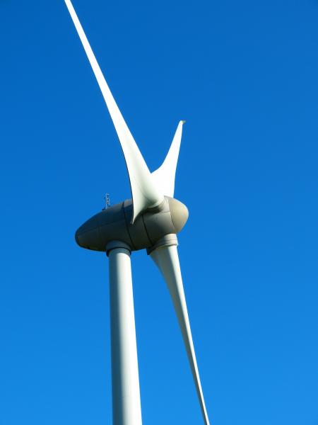
[[[106,251],[112,241],[121,241],[131,251],[151,249],[167,234],[177,234],[187,222],[187,207],[175,198],[165,196],[163,205],[147,210],[131,225],[131,199],[98,212],[79,227],[75,234],[79,246]]]

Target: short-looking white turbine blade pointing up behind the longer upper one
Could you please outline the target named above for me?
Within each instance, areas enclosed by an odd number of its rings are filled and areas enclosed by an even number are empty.
[[[167,157],[163,164],[153,173],[153,179],[157,184],[160,191],[165,196],[170,196],[173,198],[175,193],[175,171],[177,169],[177,162],[179,157],[179,149],[182,136],[182,125],[185,121],[180,121],[175,132],[175,137],[173,137],[172,144],[170,146]]]

